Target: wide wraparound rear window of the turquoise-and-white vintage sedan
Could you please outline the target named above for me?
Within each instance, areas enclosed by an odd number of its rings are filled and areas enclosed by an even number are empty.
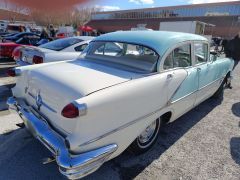
[[[147,73],[157,70],[159,55],[152,49],[137,44],[122,42],[91,42],[81,57],[119,65]]]

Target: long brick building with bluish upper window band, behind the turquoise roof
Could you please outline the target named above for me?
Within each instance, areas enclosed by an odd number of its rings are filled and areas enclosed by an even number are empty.
[[[240,31],[240,1],[97,12],[87,23],[100,32],[130,30],[139,24],[159,30],[160,22],[201,21],[214,24],[205,34],[231,38]]]

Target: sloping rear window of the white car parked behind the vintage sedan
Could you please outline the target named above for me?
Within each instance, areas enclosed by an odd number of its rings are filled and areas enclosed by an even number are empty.
[[[61,51],[69,46],[72,46],[82,41],[83,40],[78,38],[65,38],[65,39],[58,39],[58,40],[43,44],[39,47],[54,50],[54,51]]]

